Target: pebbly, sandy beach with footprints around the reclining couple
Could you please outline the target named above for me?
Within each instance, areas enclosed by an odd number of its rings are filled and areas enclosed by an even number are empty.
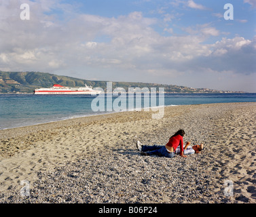
[[[255,102],[152,113],[1,130],[0,203],[256,203]],[[168,159],[136,150],[136,140],[164,145],[179,129],[184,142],[204,144],[202,153]]]

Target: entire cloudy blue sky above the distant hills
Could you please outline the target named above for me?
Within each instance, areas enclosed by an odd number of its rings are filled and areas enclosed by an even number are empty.
[[[256,92],[256,0],[0,0],[0,71]]]

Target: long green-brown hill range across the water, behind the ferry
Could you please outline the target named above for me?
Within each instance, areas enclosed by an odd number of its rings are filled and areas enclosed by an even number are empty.
[[[106,88],[107,81],[90,81],[86,79],[77,79],[74,77],[54,75],[50,73],[39,72],[4,72],[0,71],[0,93],[27,93],[31,94],[36,88],[52,87],[54,83],[58,83],[67,87],[84,86],[84,84],[92,87]],[[208,93],[221,92],[217,90],[209,90],[207,88],[191,88],[177,85],[161,85],[157,83],[139,83],[139,82],[113,82],[115,87],[124,87],[127,91],[128,87],[164,87],[166,93]],[[157,89],[158,90],[158,89]]]

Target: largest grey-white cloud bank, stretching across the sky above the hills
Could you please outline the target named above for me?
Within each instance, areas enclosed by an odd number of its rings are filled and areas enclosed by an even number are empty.
[[[256,73],[256,38],[236,36],[206,43],[222,34],[211,23],[183,28],[183,35],[175,34],[175,26],[164,25],[164,32],[171,33],[166,36],[153,28],[163,22],[142,12],[109,18],[67,9],[62,10],[62,16],[67,15],[63,20],[50,12],[65,5],[43,2],[44,6],[29,1],[33,9],[26,21],[19,19],[19,1],[0,5],[1,70],[194,87],[211,87],[208,79],[215,77]]]

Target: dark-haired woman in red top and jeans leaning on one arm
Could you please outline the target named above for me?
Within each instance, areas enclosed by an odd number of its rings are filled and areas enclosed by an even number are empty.
[[[136,142],[137,149],[141,151],[141,155],[158,155],[164,157],[175,157],[175,150],[177,146],[180,146],[181,157],[187,157],[183,154],[183,136],[185,135],[184,130],[178,130],[173,136],[170,137],[168,143],[164,145],[154,144],[153,146],[142,145],[138,140]]]

